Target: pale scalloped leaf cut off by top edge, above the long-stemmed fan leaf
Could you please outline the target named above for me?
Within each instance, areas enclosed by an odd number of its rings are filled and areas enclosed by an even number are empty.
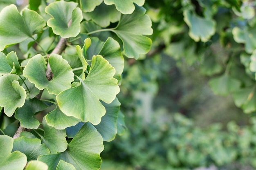
[[[133,3],[142,6],[144,5],[145,0],[104,0],[104,2],[107,5],[115,4],[117,10],[123,14],[131,14],[135,10]]]

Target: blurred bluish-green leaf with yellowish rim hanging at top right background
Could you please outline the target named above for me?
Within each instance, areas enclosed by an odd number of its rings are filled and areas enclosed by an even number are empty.
[[[216,30],[216,22],[207,18],[202,18],[191,13],[188,10],[183,11],[184,21],[189,26],[189,36],[198,42],[207,42],[214,35]]]

